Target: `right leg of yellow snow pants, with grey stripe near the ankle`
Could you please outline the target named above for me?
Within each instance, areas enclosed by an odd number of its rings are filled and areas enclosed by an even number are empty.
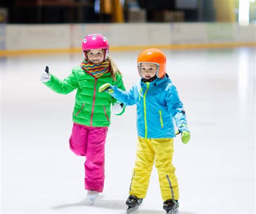
[[[179,187],[175,168],[172,164],[173,139],[151,139],[156,153],[156,168],[164,201],[168,199],[179,199]]]

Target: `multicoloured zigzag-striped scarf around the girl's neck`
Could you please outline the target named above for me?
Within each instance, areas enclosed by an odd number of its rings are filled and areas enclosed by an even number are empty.
[[[105,73],[109,72],[109,61],[103,61],[102,63],[92,64],[90,61],[83,60],[81,67],[86,72],[93,75],[95,78],[102,77]]]

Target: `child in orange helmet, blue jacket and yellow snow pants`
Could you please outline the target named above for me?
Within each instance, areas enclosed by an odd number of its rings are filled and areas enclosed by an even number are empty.
[[[158,49],[141,52],[137,61],[141,80],[129,92],[109,83],[99,88],[126,106],[137,106],[137,158],[130,185],[127,213],[138,209],[146,197],[151,170],[156,160],[163,209],[178,214],[179,188],[172,164],[174,123],[181,133],[181,141],[190,141],[186,114],[176,87],[166,74],[166,57]]]

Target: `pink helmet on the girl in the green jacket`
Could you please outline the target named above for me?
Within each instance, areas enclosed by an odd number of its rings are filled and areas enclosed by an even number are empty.
[[[84,53],[84,58],[87,60],[86,51],[91,49],[104,49],[105,59],[107,59],[107,53],[109,53],[109,42],[107,39],[98,33],[93,33],[87,35],[82,42],[82,51]]]

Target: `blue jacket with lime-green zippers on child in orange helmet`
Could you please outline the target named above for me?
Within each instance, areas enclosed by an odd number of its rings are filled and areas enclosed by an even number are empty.
[[[177,128],[187,130],[183,103],[169,76],[152,82],[139,81],[129,92],[113,86],[114,98],[125,106],[137,105],[137,132],[145,139],[175,137],[173,118]]]

